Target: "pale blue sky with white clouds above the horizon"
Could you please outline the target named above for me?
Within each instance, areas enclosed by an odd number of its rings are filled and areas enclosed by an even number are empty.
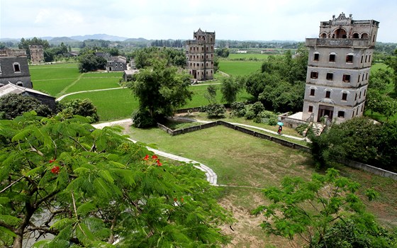
[[[0,38],[191,40],[201,28],[219,40],[303,41],[343,12],[379,21],[377,41],[397,43],[396,11],[396,0],[0,0]]]

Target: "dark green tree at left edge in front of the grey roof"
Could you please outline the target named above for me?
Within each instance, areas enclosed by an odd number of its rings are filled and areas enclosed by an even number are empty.
[[[40,116],[52,115],[52,110],[38,99],[20,94],[8,94],[0,98],[0,112],[4,119],[13,119],[25,112],[35,111]]]

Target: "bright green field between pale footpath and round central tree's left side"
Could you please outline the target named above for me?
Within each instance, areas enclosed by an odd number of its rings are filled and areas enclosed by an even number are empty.
[[[131,113],[138,108],[138,100],[130,89],[113,89],[110,91],[95,91],[67,96],[62,99],[69,101],[75,98],[89,98],[98,109],[101,121],[130,118]]]

